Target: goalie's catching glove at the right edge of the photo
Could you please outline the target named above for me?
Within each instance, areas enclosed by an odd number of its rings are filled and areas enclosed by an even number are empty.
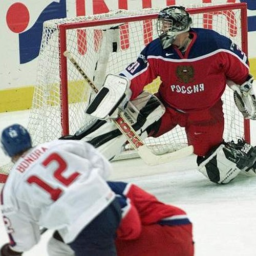
[[[244,118],[255,120],[256,97],[253,91],[253,77],[248,75],[246,81],[241,86],[232,81],[228,81],[227,84],[234,91],[234,102]]]

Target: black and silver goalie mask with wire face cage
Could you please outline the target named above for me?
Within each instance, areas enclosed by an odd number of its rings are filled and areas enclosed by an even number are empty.
[[[187,32],[191,24],[192,19],[182,6],[170,6],[161,10],[157,19],[157,33],[163,49],[171,46],[177,35]]]

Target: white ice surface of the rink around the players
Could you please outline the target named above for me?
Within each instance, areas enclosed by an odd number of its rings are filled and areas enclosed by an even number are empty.
[[[0,131],[9,124],[26,126],[28,111],[0,114]],[[255,124],[254,124],[255,123]],[[256,121],[252,122],[255,144]],[[1,165],[9,159],[0,152]],[[165,203],[183,208],[194,224],[196,256],[256,255],[256,177],[239,176],[226,185],[209,182],[196,170],[195,156],[159,166],[147,166],[141,159],[113,163],[110,179],[133,182]],[[42,235],[27,255],[45,256],[51,232]],[[8,237],[0,220],[0,246]]]

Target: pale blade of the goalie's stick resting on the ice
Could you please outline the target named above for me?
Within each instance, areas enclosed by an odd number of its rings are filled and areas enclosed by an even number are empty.
[[[153,154],[146,145],[138,147],[138,154],[147,165],[158,165],[168,163],[189,156],[193,154],[193,152],[194,147],[192,145],[181,148],[181,150],[163,155]]]

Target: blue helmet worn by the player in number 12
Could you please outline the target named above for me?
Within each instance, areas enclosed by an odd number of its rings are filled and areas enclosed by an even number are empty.
[[[32,147],[29,132],[20,124],[13,124],[2,132],[1,143],[6,155],[13,157]]]

